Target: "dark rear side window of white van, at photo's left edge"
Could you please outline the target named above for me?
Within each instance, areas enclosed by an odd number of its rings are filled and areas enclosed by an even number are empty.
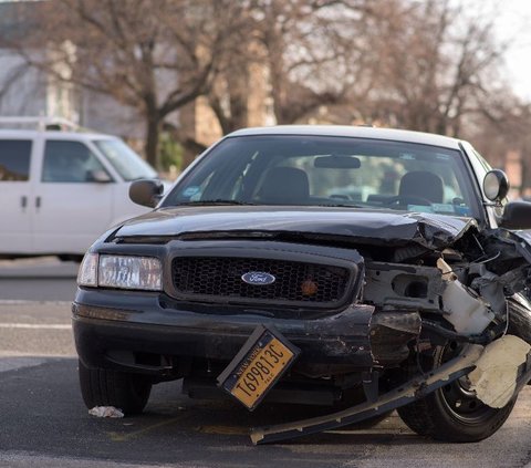
[[[24,181],[30,177],[31,141],[0,141],[0,181]]]

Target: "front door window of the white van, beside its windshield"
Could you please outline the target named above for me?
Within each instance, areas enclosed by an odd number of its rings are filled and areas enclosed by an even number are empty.
[[[92,183],[95,171],[104,171],[102,163],[80,142],[49,141],[42,165],[43,183]]]

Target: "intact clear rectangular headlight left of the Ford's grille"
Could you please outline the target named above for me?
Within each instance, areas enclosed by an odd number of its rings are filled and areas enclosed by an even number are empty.
[[[94,256],[95,260],[90,260],[90,256]],[[91,282],[94,280],[93,262],[97,264],[95,283]],[[79,278],[80,285],[148,291],[163,289],[163,267],[160,260],[153,257],[87,254],[81,266]],[[83,280],[85,282],[82,282]]]

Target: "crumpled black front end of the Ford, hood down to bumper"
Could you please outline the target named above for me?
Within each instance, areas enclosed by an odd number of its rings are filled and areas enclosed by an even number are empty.
[[[177,223],[168,212],[147,217],[136,236],[134,225],[108,233],[97,252],[160,259],[164,288],[80,288],[73,322],[82,362],[154,382],[185,377],[190,396],[219,397],[216,376],[266,327],[300,350],[267,398],[335,404],[353,394],[362,406],[339,425],[450,384],[470,404],[477,395],[481,405],[508,407],[530,378],[527,239],[481,231],[468,218],[348,214],[309,220],[263,209],[249,231],[231,208],[216,212],[226,229],[212,231],[200,229],[212,212]],[[183,228],[191,221],[195,229]],[[164,235],[149,235],[150,223]]]

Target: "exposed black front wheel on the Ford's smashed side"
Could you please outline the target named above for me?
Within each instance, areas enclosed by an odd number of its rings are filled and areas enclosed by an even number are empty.
[[[458,352],[455,343],[438,347],[427,360],[426,370],[430,366],[438,367]],[[494,434],[511,414],[516,402],[517,397],[502,408],[491,408],[476,398],[465,376],[397,412],[402,420],[421,436],[445,441],[473,443]]]

